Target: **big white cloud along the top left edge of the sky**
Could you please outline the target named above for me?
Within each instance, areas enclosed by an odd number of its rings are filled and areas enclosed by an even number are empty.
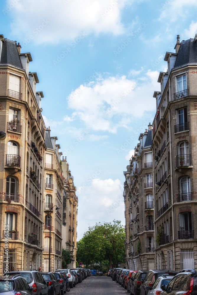
[[[119,35],[124,32],[121,10],[129,1],[20,1],[10,11],[13,17],[12,34],[22,39],[32,35],[37,43],[71,41],[82,32]],[[13,5],[12,2],[7,0],[7,5]]]

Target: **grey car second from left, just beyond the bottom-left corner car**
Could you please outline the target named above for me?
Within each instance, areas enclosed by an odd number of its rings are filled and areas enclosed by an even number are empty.
[[[28,283],[30,287],[33,287],[33,294],[48,295],[48,286],[43,276],[38,271],[9,271],[6,275],[14,276],[20,275]],[[4,274],[5,275],[5,274]]]

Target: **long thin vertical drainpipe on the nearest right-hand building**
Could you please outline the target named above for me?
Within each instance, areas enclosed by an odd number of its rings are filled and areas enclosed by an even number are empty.
[[[170,97],[169,97],[170,98]],[[172,199],[172,240],[173,240],[173,270],[175,271],[175,230],[174,230],[174,196],[173,196],[173,177],[172,177],[172,138],[171,138],[171,122],[170,110],[168,110],[169,117],[169,133],[170,133],[170,178],[171,178],[171,199]]]

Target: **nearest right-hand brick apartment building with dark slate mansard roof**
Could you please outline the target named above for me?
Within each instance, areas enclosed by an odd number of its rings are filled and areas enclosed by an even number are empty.
[[[197,34],[166,52],[154,92],[152,152],[156,267],[197,267]]]

